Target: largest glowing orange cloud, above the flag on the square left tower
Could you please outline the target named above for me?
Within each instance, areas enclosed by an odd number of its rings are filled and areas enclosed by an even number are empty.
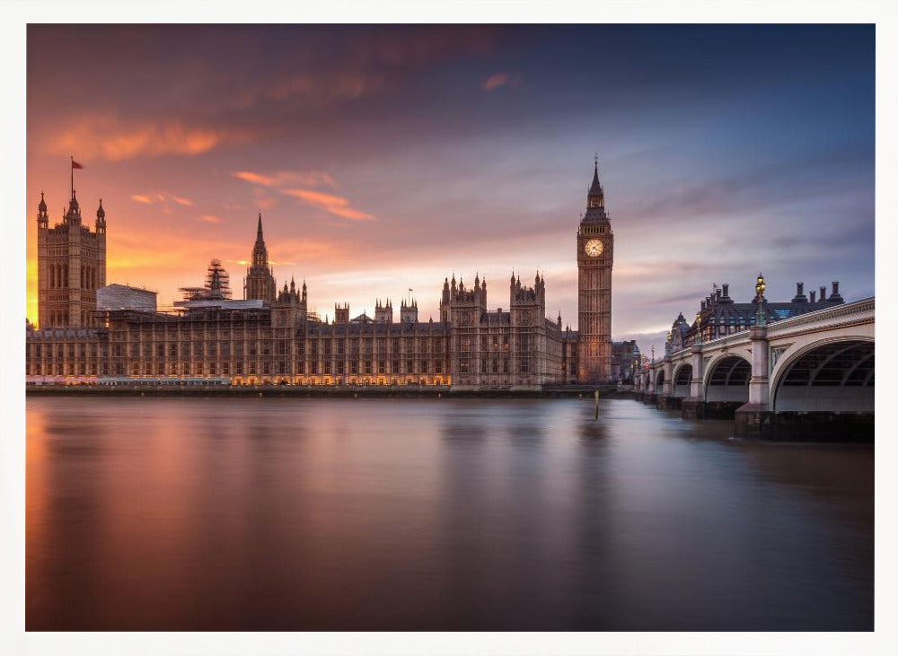
[[[249,139],[245,131],[186,126],[180,121],[126,125],[119,119],[94,116],[73,121],[47,136],[48,153],[80,153],[84,159],[120,162],[135,157],[198,155],[225,143]]]

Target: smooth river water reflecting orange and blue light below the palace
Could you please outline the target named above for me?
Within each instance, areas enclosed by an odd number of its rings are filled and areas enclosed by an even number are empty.
[[[874,450],[628,399],[28,398],[29,630],[872,630]]]

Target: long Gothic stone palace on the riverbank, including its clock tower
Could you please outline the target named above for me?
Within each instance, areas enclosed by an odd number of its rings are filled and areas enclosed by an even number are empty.
[[[62,223],[38,206],[38,325],[27,325],[29,382],[191,380],[217,384],[427,385],[452,389],[541,389],[629,380],[635,341],[612,344],[614,235],[594,169],[577,231],[578,328],[547,318],[546,284],[508,281],[507,309],[488,310],[487,281],[446,279],[437,321],[418,304],[377,302],[374,318],[332,321],[308,310],[305,283],[280,289],[269,267],[262,218],[243,284],[231,298],[225,269],[185,287],[172,311],[154,292],[106,282],[106,212],[82,223],[73,185]]]

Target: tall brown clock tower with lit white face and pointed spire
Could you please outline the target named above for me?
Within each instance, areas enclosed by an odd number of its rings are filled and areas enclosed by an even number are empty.
[[[612,265],[614,234],[595,159],[586,214],[577,230],[577,380],[608,382],[612,373]]]

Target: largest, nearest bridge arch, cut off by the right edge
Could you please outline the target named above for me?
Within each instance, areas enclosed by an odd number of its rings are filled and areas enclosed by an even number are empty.
[[[871,337],[831,337],[806,345],[777,363],[770,380],[770,409],[873,412],[875,365]]]

